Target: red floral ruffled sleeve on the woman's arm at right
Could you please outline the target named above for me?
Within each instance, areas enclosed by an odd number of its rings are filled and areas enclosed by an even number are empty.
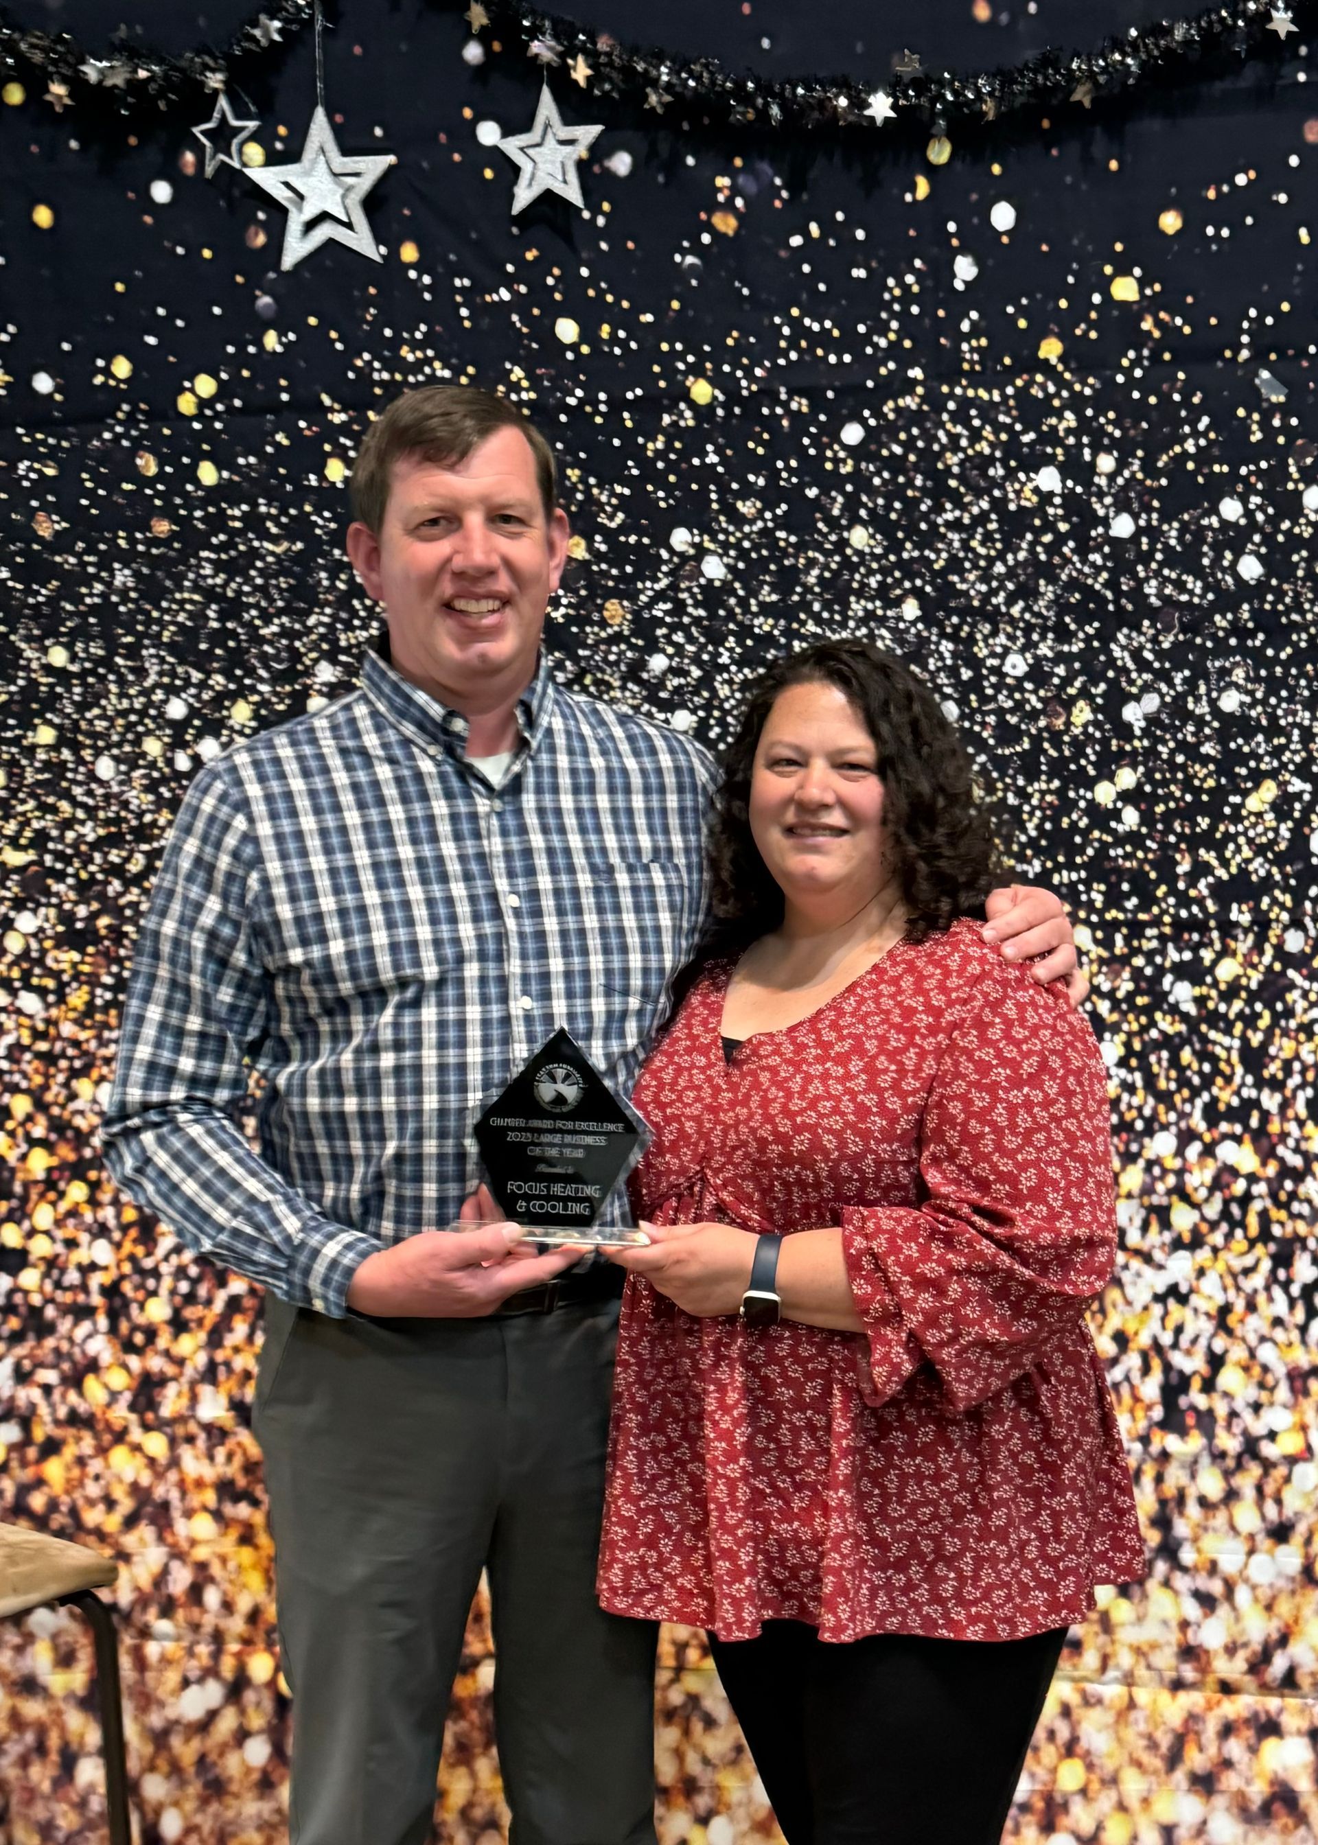
[[[1061,994],[984,976],[929,1092],[919,1179],[917,1207],[842,1214],[864,1395],[886,1402],[927,1362],[969,1410],[1037,1363],[1113,1269],[1106,1072]]]

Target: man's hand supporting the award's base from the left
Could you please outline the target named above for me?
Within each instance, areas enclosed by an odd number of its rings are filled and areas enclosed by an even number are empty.
[[[373,1319],[478,1319],[521,1288],[535,1288],[580,1262],[581,1251],[532,1255],[517,1223],[421,1231],[367,1256],[347,1304]]]

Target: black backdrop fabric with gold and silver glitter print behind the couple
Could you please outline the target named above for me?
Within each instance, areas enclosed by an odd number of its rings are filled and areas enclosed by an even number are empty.
[[[102,50],[118,9],[61,24]],[[1300,11],[1300,9],[1298,9]],[[620,41],[884,81],[1091,44],[1150,7],[807,11],[594,0]],[[220,41],[175,7],[166,48]],[[131,24],[131,22],[129,22]],[[557,445],[583,690],[718,745],[809,637],[905,653],[965,729],[1015,862],[1076,908],[1109,1065],[1120,1275],[1095,1310],[1154,1553],[1072,1635],[1010,1836],[1312,1834],[1311,1118],[1318,83],[1305,35],[1211,85],[953,137],[775,138],[600,103],[585,210],[509,218],[491,127],[541,70],[458,7],[343,0],[345,153],[397,164],[378,264],[279,269],[284,214],[207,181],[190,111],[0,103],[0,1443],[4,1511],[124,1563],[144,1841],[279,1832],[288,1703],[247,1432],[258,1303],[103,1179],[133,934],[196,768],[351,686],[375,614],[341,552],[373,411],[498,386]],[[131,39],[129,39],[131,42]],[[268,162],[310,33],[242,77]],[[552,1585],[546,1585],[552,1592]],[[4,1635],[15,1839],[81,1836],[76,1629]],[[473,1614],[439,1825],[502,1823]],[[665,1638],[665,1841],[772,1836],[696,1635]]]

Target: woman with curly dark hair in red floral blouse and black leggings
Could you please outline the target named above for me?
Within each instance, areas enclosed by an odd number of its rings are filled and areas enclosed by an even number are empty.
[[[1144,1572],[1102,1061],[964,921],[993,834],[877,649],[770,670],[713,863],[729,952],[637,1087],[600,1600],[709,1629],[790,1845],[989,1845],[1067,1625]]]

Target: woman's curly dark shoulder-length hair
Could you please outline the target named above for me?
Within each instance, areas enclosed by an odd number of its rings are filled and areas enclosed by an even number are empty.
[[[716,922],[707,954],[749,945],[783,921],[783,891],[751,836],[751,769],[779,694],[812,681],[844,692],[875,742],[906,939],[923,941],[978,910],[1002,871],[969,756],[930,688],[868,640],[821,640],[761,675],[724,755],[709,832]]]

